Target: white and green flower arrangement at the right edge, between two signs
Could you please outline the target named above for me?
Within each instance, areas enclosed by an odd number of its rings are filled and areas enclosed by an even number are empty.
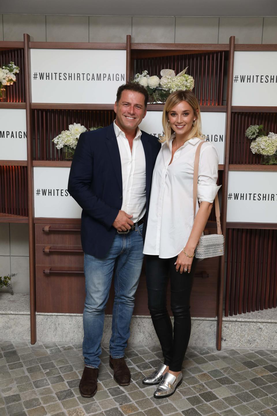
[[[254,154],[267,156],[263,158],[263,164],[277,164],[277,134],[266,134],[264,126],[253,124],[245,131],[245,136],[252,140],[250,149]],[[253,140],[254,139],[254,140]]]

